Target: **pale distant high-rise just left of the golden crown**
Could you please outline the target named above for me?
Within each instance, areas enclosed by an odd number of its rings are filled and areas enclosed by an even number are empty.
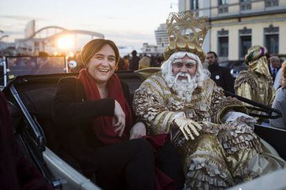
[[[157,43],[158,53],[163,53],[166,46],[169,44],[168,32],[166,30],[166,23],[161,23],[155,30],[155,38]]]

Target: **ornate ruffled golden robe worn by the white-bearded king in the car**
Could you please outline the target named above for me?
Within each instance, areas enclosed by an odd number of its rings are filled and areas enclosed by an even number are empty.
[[[196,88],[187,103],[168,88],[158,72],[135,91],[133,109],[145,122],[149,134],[170,133],[182,155],[185,189],[224,189],[254,178],[265,169],[253,163],[253,158],[259,160],[263,148],[251,127],[235,121],[221,124],[227,111],[245,112],[245,106],[237,99],[225,97],[222,88],[211,79],[204,81],[203,88]],[[172,121],[180,113],[202,124],[195,140],[187,141],[178,135],[182,133]],[[278,160],[277,168],[283,165],[282,159],[274,158]]]

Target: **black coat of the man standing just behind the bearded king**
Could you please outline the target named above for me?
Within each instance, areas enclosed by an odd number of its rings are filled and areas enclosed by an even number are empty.
[[[234,93],[234,79],[227,68],[219,66],[218,63],[216,63],[209,66],[209,72],[211,72],[211,79],[216,82],[216,85],[226,91]]]

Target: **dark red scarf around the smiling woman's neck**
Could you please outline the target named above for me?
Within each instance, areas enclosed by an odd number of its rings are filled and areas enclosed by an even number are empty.
[[[87,69],[82,69],[79,71],[79,79],[84,86],[84,92],[86,94],[86,99],[97,100],[101,99],[97,85],[93,77],[88,73]],[[98,116],[93,120],[93,133],[103,144],[115,144],[117,142],[122,142],[129,139],[129,131],[133,125],[132,123],[132,110],[128,105],[124,93],[122,91],[122,86],[120,79],[117,75],[113,74],[107,82],[108,88],[108,98],[116,99],[117,102],[122,107],[125,113],[125,128],[122,137],[119,136],[119,132],[115,133],[115,127],[112,124],[112,116]]]

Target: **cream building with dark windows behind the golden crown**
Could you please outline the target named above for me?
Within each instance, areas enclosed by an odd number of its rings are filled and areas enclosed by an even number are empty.
[[[286,54],[285,0],[179,0],[179,11],[184,10],[210,18],[204,50],[222,59],[244,60],[255,45],[267,47],[269,54]]]

